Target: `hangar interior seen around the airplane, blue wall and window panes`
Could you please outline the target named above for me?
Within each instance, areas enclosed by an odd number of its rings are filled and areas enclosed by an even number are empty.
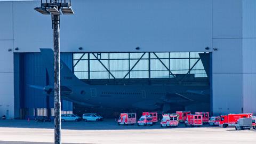
[[[87,52],[61,53],[61,60],[90,85],[206,85],[210,89],[210,53],[200,52]],[[53,97],[29,85],[49,85],[40,53],[15,53],[15,117],[53,116]],[[100,113],[118,110],[88,108],[62,101],[62,113]]]

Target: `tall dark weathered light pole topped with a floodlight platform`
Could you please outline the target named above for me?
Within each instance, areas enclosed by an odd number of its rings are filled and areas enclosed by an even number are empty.
[[[74,14],[71,0],[41,0],[41,6],[35,10],[42,14],[51,14],[54,51],[54,143],[61,143],[61,103],[60,103],[60,14]]]

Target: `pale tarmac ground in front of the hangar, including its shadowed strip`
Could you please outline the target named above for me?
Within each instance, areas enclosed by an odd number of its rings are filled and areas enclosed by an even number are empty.
[[[49,144],[54,141],[53,122],[0,120],[0,143]],[[115,121],[63,122],[62,143],[255,143],[256,130],[203,125],[175,128],[117,125]]]

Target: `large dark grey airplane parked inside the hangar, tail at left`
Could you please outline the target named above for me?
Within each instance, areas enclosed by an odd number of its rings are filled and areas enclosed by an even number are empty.
[[[53,84],[53,51],[40,49],[50,84]],[[195,109],[210,109],[209,86],[176,85],[89,85],[78,79],[74,73],[60,61],[61,99],[86,107],[108,107],[115,109],[145,109],[170,111],[173,107],[194,106]],[[37,86],[47,95],[53,95],[53,85]],[[202,107],[206,103],[209,108]]]

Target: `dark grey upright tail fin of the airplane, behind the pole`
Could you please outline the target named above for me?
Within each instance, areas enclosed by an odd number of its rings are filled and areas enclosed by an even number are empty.
[[[53,50],[52,49],[40,49],[41,54],[44,59],[44,66],[46,67],[49,84],[54,83],[54,59],[53,59]],[[61,85],[88,85],[80,81],[72,71],[67,67],[67,65],[60,60],[60,83]]]

